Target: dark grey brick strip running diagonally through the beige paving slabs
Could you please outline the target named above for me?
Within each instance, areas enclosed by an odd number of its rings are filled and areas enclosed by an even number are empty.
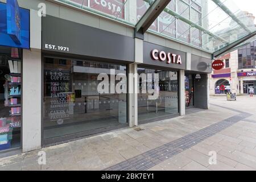
[[[179,154],[180,152],[195,146],[203,140],[212,137],[222,130],[234,125],[247,117],[250,117],[249,113],[241,113],[234,115],[228,119],[224,119],[218,123],[214,123],[204,129],[196,131],[195,133],[189,134],[185,137],[174,140],[170,143],[164,144],[163,146],[154,148],[153,150],[144,152],[141,155],[135,156],[134,158],[125,160],[122,163],[115,164],[104,171],[146,171],[156,164],[162,163],[164,160],[171,158]]]

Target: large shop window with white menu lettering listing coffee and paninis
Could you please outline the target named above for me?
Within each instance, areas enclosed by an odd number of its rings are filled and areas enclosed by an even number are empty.
[[[127,87],[122,88],[122,93],[115,90],[116,85],[126,81],[118,80],[117,74],[126,76],[126,71],[126,65],[45,57],[43,138],[87,135],[126,126]],[[109,93],[98,90],[101,73],[106,76],[103,80],[108,83]],[[110,77],[115,81],[110,82]]]

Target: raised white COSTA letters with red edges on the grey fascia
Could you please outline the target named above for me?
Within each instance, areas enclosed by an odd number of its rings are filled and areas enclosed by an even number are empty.
[[[151,51],[151,57],[153,60],[166,61],[167,64],[182,64],[181,56],[174,53],[158,51],[154,49]]]

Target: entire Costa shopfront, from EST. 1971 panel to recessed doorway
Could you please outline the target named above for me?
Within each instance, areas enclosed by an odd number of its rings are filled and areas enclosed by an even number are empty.
[[[192,75],[193,107],[208,108],[211,60],[143,41],[143,61],[137,63],[134,40],[49,15],[42,18],[43,146],[184,113],[185,73]],[[115,80],[107,83],[108,93],[98,90],[101,73],[102,80]],[[137,80],[130,78],[137,73]],[[132,87],[139,92],[130,93]]]

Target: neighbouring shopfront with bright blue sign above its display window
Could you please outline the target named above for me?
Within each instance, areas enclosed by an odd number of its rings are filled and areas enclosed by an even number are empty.
[[[22,49],[30,48],[30,11],[0,2],[0,152],[21,147]]]

